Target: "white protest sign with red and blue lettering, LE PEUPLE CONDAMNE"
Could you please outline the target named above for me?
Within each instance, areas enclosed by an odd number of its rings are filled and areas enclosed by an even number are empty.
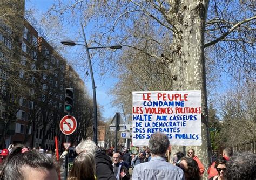
[[[132,143],[147,146],[157,131],[171,145],[201,145],[201,91],[132,92]]]

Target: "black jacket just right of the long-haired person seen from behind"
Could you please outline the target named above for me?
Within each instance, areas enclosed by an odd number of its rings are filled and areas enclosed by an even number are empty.
[[[98,179],[116,180],[116,177],[114,177],[112,161],[104,151],[96,151],[95,163],[96,163],[97,180]]]

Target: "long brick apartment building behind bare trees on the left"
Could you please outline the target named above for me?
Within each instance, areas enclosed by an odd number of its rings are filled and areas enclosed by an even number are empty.
[[[29,22],[22,18],[18,27],[0,19],[0,149],[23,143],[52,150],[65,88],[83,93],[84,82]]]

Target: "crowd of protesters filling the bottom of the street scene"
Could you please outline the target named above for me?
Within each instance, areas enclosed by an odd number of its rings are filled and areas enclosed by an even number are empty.
[[[205,167],[195,155],[195,150],[188,149],[187,156],[177,152],[170,163],[166,161],[169,145],[170,141],[163,133],[154,133],[149,146],[137,149],[137,154],[129,153],[127,149],[122,152],[98,150],[92,140],[82,141],[73,148],[75,158],[68,179],[203,179]],[[69,155],[69,151],[64,151],[62,155]],[[3,149],[0,156],[0,163],[3,164],[0,180],[58,179],[61,164],[49,150],[44,151],[41,147],[30,149],[17,144]],[[133,169],[132,175],[130,168]],[[225,148],[207,173],[210,180],[254,180],[256,155],[248,152],[233,155],[231,148]]]

